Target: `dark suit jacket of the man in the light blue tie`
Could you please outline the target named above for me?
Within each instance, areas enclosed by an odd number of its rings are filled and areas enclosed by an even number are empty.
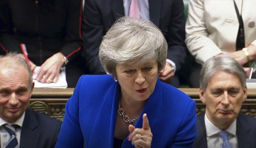
[[[207,148],[206,129],[204,124],[204,113],[197,116],[196,140],[194,148]],[[239,148],[256,147],[256,118],[239,113],[236,120],[236,133]]]

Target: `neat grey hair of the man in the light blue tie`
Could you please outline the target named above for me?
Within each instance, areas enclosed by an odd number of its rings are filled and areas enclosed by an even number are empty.
[[[246,86],[246,74],[243,67],[233,58],[228,56],[212,57],[209,58],[203,65],[200,72],[200,88],[205,92],[207,84],[212,76],[220,71],[224,70],[235,74],[239,77],[244,89]]]

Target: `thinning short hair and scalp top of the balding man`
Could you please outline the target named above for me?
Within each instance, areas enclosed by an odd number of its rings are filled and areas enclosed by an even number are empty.
[[[3,67],[14,68],[17,64],[20,64],[26,68],[29,76],[29,87],[32,89],[33,86],[33,73],[28,66],[27,61],[24,58],[21,58],[18,53],[9,53],[6,55],[0,55],[0,63]]]

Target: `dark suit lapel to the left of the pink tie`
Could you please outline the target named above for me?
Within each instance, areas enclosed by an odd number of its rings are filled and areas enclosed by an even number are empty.
[[[118,19],[122,16],[124,16],[124,4],[123,0],[112,0],[112,12],[115,17],[115,19]]]

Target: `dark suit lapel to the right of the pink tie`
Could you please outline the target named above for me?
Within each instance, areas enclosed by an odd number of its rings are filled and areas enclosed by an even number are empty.
[[[162,0],[149,0],[150,20],[159,27],[161,17]]]

